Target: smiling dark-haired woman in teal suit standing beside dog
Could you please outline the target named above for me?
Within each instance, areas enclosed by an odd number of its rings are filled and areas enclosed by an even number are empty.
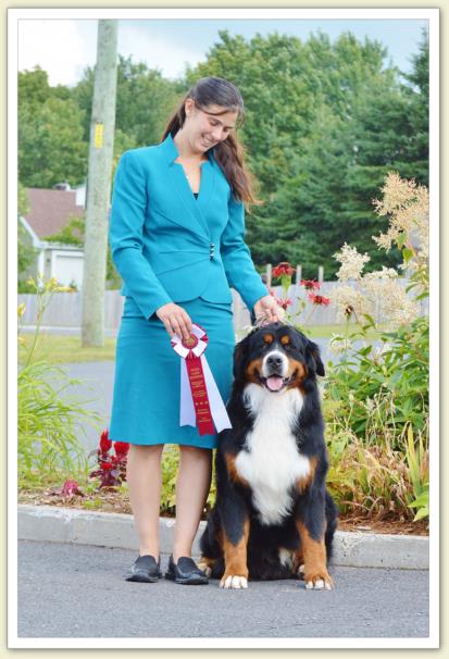
[[[216,435],[179,426],[179,357],[175,334],[205,330],[209,365],[224,401],[235,345],[233,286],[267,322],[283,310],[269,295],[244,243],[244,202],[254,201],[235,128],[244,102],[229,82],[201,78],[189,90],[161,144],[126,151],[111,211],[112,258],[126,296],[117,337],[110,438],[129,443],[127,482],[139,535],[128,581],[155,582],[161,455],[178,444],[176,524],[165,574],[183,584],[208,579],[191,559],[211,481]]]

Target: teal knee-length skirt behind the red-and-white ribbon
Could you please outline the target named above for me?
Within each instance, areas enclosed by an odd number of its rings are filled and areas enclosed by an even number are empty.
[[[235,334],[230,303],[202,298],[179,303],[209,337],[204,356],[224,402],[230,394]],[[180,444],[215,448],[215,435],[179,425],[180,357],[164,324],[147,320],[126,297],[115,351],[109,437],[128,444]]]

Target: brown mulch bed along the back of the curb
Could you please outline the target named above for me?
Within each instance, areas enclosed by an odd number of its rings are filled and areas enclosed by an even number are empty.
[[[93,495],[74,495],[63,497],[45,492],[20,492],[18,502],[30,506],[60,506],[62,508],[77,508],[82,510],[93,510],[97,512],[120,512],[133,514],[129,500],[121,493],[114,490],[102,490]],[[172,517],[169,513],[165,517]],[[338,522],[340,531],[364,531],[366,533],[390,533],[394,535],[428,535],[428,522],[400,520],[373,520],[356,515],[341,515]]]

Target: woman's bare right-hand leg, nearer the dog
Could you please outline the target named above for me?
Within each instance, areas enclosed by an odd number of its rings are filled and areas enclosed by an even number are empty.
[[[179,446],[179,450],[173,546],[175,563],[180,556],[191,556],[191,545],[208,498],[212,474],[212,450],[195,446]]]

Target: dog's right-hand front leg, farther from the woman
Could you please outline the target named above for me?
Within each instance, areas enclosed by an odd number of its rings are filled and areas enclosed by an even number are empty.
[[[304,560],[305,587],[332,590],[334,583],[327,572],[326,546],[324,543],[326,527],[324,495],[316,498],[310,497],[310,500],[301,509],[297,517],[297,529],[301,538]]]

